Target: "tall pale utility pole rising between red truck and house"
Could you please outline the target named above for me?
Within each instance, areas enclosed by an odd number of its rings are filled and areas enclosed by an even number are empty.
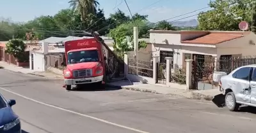
[[[134,55],[136,58],[136,73],[138,74],[138,59],[139,59],[139,33],[138,27],[133,27],[133,42],[134,42]]]

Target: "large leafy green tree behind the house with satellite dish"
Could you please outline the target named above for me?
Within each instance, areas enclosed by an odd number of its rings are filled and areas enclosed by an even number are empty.
[[[256,0],[216,0],[209,6],[214,10],[198,15],[198,29],[218,31],[239,31],[238,24],[245,20],[252,26],[252,16],[255,26],[255,11],[252,15],[252,6],[256,8]],[[236,3],[236,4],[234,4]],[[253,3],[253,4],[252,4]]]

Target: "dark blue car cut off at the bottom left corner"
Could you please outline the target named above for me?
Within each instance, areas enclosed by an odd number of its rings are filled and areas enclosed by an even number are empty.
[[[6,101],[0,94],[0,132],[1,133],[21,133],[20,120],[13,110],[12,106],[16,104],[15,100]]]

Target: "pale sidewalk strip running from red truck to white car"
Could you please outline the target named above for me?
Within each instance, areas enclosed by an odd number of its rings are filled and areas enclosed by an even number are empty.
[[[181,90],[177,88],[163,87],[163,85],[150,85],[129,80],[116,81],[108,83],[109,87],[121,87],[127,90],[136,90],[141,92],[150,92],[154,94],[180,95],[189,99],[204,99],[211,101],[215,95],[220,94],[218,89],[212,90]]]

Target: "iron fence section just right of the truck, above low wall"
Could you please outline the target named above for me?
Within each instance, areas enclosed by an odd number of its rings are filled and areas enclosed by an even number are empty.
[[[128,73],[153,78],[153,65],[148,60],[128,59]]]

